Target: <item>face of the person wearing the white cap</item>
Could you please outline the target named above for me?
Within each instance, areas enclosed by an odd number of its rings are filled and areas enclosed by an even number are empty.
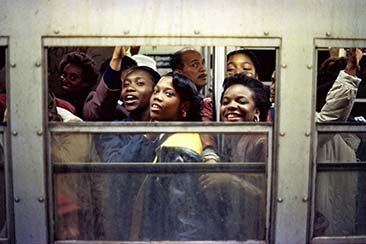
[[[149,109],[150,97],[153,93],[154,82],[149,73],[144,70],[133,70],[122,82],[121,96],[129,112]]]

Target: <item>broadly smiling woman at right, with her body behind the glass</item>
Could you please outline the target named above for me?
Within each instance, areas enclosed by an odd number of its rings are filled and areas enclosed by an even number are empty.
[[[266,121],[269,106],[268,92],[262,82],[244,73],[225,79],[220,108],[222,121]],[[225,135],[222,140],[220,156],[225,162],[267,162],[267,137],[261,133]],[[203,174],[199,180],[210,203],[220,208],[220,239],[264,239],[264,173],[211,173]]]

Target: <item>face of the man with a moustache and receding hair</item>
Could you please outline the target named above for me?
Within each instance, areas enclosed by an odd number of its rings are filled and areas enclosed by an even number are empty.
[[[177,71],[191,79],[198,90],[207,84],[206,68],[199,52],[194,50],[184,52],[182,54],[182,63],[183,68]]]

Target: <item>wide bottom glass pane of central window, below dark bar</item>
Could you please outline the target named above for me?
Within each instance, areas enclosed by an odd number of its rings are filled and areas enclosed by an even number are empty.
[[[56,179],[56,239],[264,239],[264,173]]]

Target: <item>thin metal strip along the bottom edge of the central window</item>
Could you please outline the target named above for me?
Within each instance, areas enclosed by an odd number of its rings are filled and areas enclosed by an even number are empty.
[[[267,244],[266,241],[55,241],[55,244]]]

